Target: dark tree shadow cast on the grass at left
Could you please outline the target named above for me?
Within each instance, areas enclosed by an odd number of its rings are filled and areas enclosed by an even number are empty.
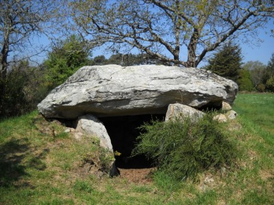
[[[0,187],[27,186],[28,184],[19,180],[23,176],[29,176],[26,172],[28,167],[40,170],[46,168],[45,163],[40,160],[41,157],[41,154],[32,154],[27,138],[12,138],[0,144]]]

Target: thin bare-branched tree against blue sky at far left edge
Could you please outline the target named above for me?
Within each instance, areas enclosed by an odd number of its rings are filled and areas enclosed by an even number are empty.
[[[29,57],[27,50],[34,46],[32,38],[49,31],[56,10],[56,2],[51,0],[0,1],[0,80],[5,80],[10,54],[14,59],[22,53],[23,58]]]

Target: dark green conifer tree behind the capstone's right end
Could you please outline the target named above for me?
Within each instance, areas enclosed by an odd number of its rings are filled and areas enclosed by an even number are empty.
[[[208,62],[207,70],[212,70],[212,72],[222,77],[237,81],[242,65],[241,49],[238,45],[233,45],[232,42],[229,42],[214,53]]]

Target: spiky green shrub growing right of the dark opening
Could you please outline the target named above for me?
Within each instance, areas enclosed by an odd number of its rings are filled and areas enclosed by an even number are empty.
[[[212,120],[208,113],[199,122],[190,118],[169,122],[153,121],[140,128],[145,131],[134,148],[134,154],[145,154],[159,169],[175,178],[195,179],[199,172],[210,167],[232,165],[236,146],[229,141],[223,124]]]

